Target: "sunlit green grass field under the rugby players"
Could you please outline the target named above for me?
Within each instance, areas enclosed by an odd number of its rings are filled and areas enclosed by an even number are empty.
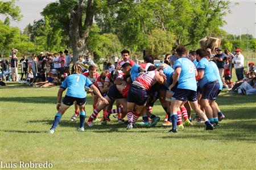
[[[177,134],[167,133],[170,128],[161,126],[164,111],[157,102],[153,113],[162,120],[155,128],[126,130],[112,118],[110,125],[96,123],[77,132],[79,121],[69,121],[72,107],[55,134],[49,135],[57,90],[17,84],[0,89],[1,161],[48,161],[52,169],[256,168],[256,96],[222,92],[217,101],[226,119],[214,131],[195,125]],[[91,97],[86,113],[92,113]]]

